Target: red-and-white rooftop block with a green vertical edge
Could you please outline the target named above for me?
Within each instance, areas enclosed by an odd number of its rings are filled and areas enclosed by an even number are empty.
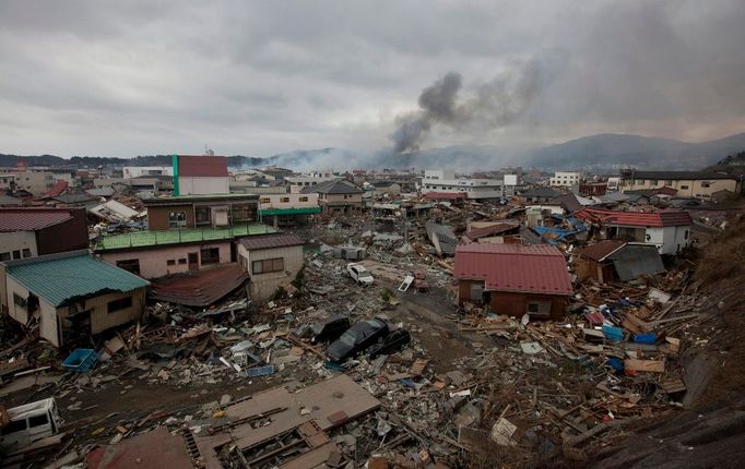
[[[227,158],[174,155],[174,195],[227,194]]]

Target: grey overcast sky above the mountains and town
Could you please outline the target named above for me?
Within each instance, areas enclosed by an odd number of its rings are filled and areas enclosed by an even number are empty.
[[[446,73],[528,63],[515,119],[422,146],[745,131],[743,0],[0,0],[0,153],[377,149]]]

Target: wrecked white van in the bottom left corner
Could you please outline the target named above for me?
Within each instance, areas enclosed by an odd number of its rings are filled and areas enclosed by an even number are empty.
[[[8,418],[10,423],[0,429],[0,448],[11,452],[56,435],[64,423],[54,397],[8,409]]]

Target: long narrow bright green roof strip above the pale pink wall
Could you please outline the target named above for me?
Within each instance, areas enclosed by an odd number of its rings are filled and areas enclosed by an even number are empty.
[[[227,228],[188,228],[167,231],[134,231],[105,236],[98,239],[95,251],[110,251],[127,248],[149,248],[164,244],[221,241],[234,238],[274,233],[272,227],[261,224],[236,225]]]

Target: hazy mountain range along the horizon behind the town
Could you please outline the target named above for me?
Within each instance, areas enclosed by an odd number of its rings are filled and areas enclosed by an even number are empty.
[[[499,147],[462,145],[399,154],[392,149],[353,152],[343,148],[298,149],[270,157],[235,155],[228,166],[248,168],[283,166],[296,170],[355,168],[454,168],[460,171],[498,169],[504,166],[537,167],[544,170],[584,169],[616,171],[624,167],[638,169],[700,169],[745,151],[745,133],[699,143],[629,134],[598,134],[560,144],[537,147]],[[28,166],[170,165],[170,156],[134,158],[72,157],[54,155],[17,156],[0,154],[1,167],[20,161]]]

